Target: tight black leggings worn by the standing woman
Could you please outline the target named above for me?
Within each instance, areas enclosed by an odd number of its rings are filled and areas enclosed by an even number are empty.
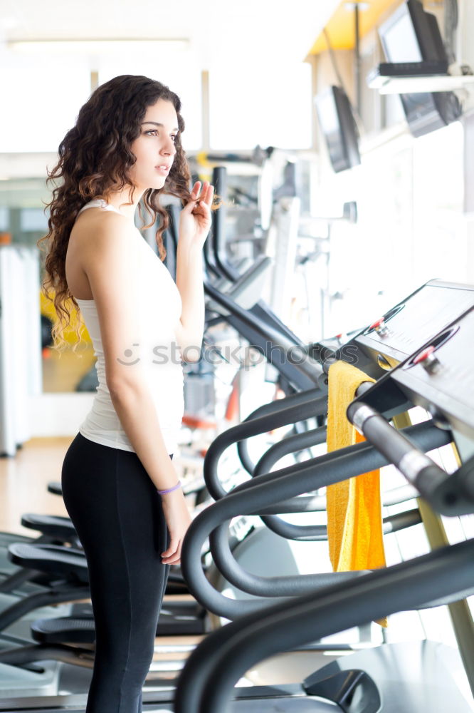
[[[75,436],[63,498],[88,562],[95,662],[86,713],[140,713],[169,565],[161,498],[137,453]]]

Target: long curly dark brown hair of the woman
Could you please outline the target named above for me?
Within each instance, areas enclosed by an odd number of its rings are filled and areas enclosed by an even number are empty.
[[[164,260],[166,252],[162,235],[169,220],[167,211],[159,203],[159,195],[175,195],[181,199],[182,205],[191,200],[189,168],[181,146],[181,133],[184,131],[181,101],[167,86],[148,77],[129,74],[99,86],[80,109],[75,126],[61,141],[58,163],[51,171],[48,170],[46,183],[54,186],[53,199],[45,209],[50,210],[49,232],[38,240],[37,245],[42,247],[40,244],[47,241],[46,276],[41,289],[56,308],[58,320],[52,333],[59,351],[65,347],[63,332],[70,324],[72,306],[80,315],[78,303],[65,277],[66,251],[75,218],[86,202],[93,198],[107,200],[113,190],[121,190],[126,185],[132,187],[133,196],[135,185],[129,172],[136,158],[130,147],[140,134],[140,123],[147,108],[158,99],[172,102],[178,116],[179,132],[174,142],[176,155],[163,188],[149,188],[142,197],[146,212],[151,217],[142,227],[151,227],[160,215],[156,240],[159,256]],[[144,223],[142,205],[139,205],[139,217]],[[49,288],[52,288],[52,294]],[[76,325],[78,342],[82,324],[79,319]]]

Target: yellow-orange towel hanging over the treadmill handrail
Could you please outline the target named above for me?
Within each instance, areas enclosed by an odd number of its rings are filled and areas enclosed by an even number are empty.
[[[330,366],[328,452],[364,441],[346,416],[347,406],[362,381],[374,379],[344,361]],[[327,539],[335,572],[385,566],[378,470],[327,488]],[[386,620],[379,620],[379,624],[386,626]]]

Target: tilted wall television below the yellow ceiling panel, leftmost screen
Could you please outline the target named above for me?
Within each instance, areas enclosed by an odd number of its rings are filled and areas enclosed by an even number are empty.
[[[359,132],[344,90],[328,87],[315,97],[315,107],[335,172],[359,165]]]

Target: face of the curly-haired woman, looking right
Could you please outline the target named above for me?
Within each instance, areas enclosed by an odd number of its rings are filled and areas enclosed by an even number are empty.
[[[137,161],[130,170],[130,177],[139,190],[163,188],[176,153],[178,117],[172,102],[158,99],[149,106],[141,129],[142,133],[131,146]]]

